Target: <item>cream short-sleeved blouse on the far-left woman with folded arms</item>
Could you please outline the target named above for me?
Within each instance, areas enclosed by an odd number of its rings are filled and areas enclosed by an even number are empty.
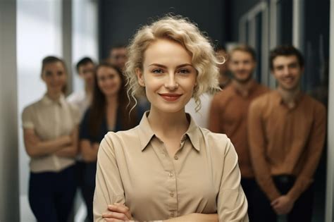
[[[69,135],[80,121],[80,113],[70,105],[63,95],[53,101],[44,95],[39,101],[25,107],[22,124],[25,129],[34,129],[41,140],[54,140]],[[40,156],[30,159],[30,171],[34,173],[58,172],[73,165],[74,159],[56,155]]]

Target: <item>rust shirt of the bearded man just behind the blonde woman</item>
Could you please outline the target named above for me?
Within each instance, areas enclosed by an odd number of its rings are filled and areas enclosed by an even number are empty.
[[[244,95],[232,82],[225,90],[218,92],[211,102],[209,130],[230,137],[239,156],[241,175],[245,178],[254,177],[247,140],[248,107],[253,99],[266,92],[268,88],[253,80],[248,93]]]

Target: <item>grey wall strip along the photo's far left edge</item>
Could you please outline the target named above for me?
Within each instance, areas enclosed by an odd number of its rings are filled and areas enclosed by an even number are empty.
[[[0,30],[0,221],[6,222],[19,221],[16,1],[0,1]]]

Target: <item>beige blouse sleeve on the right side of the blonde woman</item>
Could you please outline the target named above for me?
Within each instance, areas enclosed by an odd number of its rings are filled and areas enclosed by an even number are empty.
[[[223,175],[217,199],[219,221],[247,222],[247,199],[240,185],[240,169],[237,153],[233,144],[227,139],[223,156]]]

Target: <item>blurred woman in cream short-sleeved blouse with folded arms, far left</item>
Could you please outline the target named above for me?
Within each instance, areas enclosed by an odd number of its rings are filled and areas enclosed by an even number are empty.
[[[30,156],[29,202],[37,221],[67,221],[75,195],[74,163],[80,114],[68,104],[65,63],[42,61],[47,93],[22,114],[25,149]]]

